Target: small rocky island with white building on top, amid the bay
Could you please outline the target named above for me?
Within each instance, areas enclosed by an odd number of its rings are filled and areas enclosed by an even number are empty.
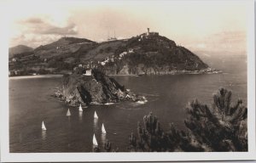
[[[113,78],[101,71],[92,69],[85,73],[75,70],[72,75],[62,77],[61,89],[54,97],[69,105],[110,104],[119,101],[143,101],[145,98],[125,89]]]

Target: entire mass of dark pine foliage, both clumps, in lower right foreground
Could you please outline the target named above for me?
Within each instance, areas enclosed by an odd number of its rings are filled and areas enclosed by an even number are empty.
[[[224,88],[213,95],[212,108],[197,99],[186,107],[188,132],[173,124],[168,132],[152,113],[137,124],[137,138],[131,133],[133,151],[247,151],[247,107],[241,99],[231,105],[232,93]]]

